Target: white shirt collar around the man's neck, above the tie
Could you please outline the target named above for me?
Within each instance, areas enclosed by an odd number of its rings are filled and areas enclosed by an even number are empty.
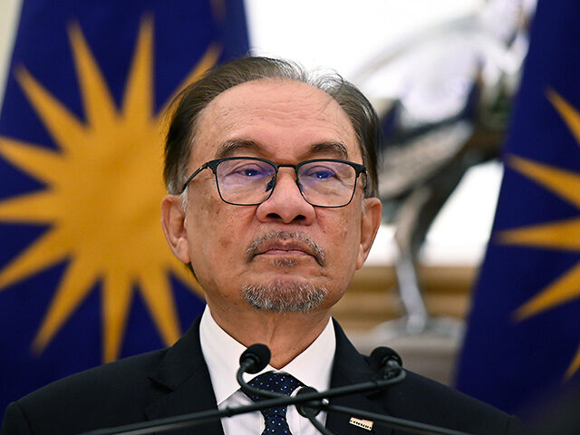
[[[221,329],[211,316],[208,306],[206,306],[201,317],[201,324],[199,324],[199,340],[219,405],[239,390],[236,372],[239,368],[239,356],[246,350],[246,346],[238,343]],[[262,372],[287,372],[303,382],[304,385],[314,387],[318,391],[324,391],[330,387],[335,349],[334,325],[329,319],[323,332],[303,353],[300,353],[279,371],[268,364]],[[248,381],[257,374],[259,373],[245,374],[244,379]]]

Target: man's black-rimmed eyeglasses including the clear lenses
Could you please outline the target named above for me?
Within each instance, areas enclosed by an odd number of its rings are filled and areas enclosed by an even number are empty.
[[[364,165],[347,160],[314,159],[297,165],[277,165],[256,157],[228,157],[201,165],[183,184],[181,193],[207,168],[216,176],[219,197],[235,206],[262,204],[274,191],[278,169],[294,168],[296,185],[306,202],[315,207],[344,207],[353,199],[356,180],[366,174]]]

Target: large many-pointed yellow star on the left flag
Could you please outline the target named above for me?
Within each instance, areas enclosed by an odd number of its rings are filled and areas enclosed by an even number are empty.
[[[24,66],[15,70],[23,92],[58,150],[0,137],[0,154],[40,180],[45,189],[0,202],[0,221],[49,228],[0,271],[0,289],[67,261],[33,343],[41,353],[102,283],[102,355],[118,358],[134,291],[140,292],[160,337],[180,335],[169,274],[198,295],[193,277],[172,256],[160,228],[162,126],[171,97],[159,113],[153,102],[153,24],[141,21],[121,101],[116,107],[78,24],[70,24],[75,70],[85,121],[63,106]],[[187,83],[218,61],[210,45]]]

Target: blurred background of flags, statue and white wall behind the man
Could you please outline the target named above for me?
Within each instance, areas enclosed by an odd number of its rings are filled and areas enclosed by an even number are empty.
[[[2,409],[200,312],[160,254],[163,111],[244,53],[341,73],[380,114],[383,224],[334,309],[362,352],[521,415],[577,377],[575,2],[121,3],[0,0]]]

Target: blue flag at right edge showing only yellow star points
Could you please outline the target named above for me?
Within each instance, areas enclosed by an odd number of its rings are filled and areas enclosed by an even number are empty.
[[[580,375],[580,3],[540,0],[457,386],[518,411]]]

